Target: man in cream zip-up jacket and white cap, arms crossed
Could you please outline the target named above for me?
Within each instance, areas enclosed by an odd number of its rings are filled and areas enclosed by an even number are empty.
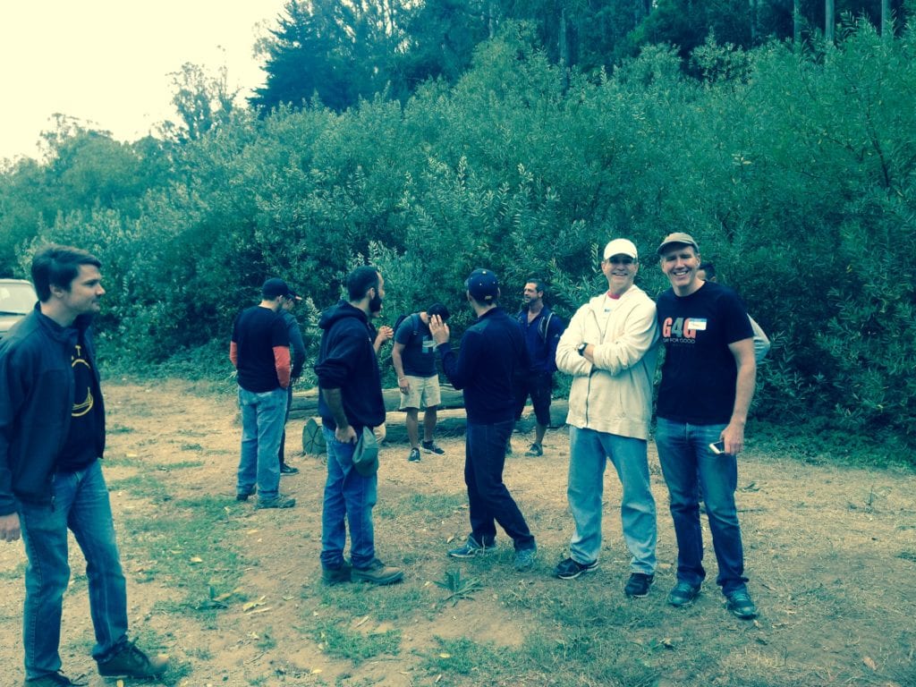
[[[620,518],[632,559],[625,594],[649,594],[655,577],[655,500],[647,446],[658,324],[655,303],[634,283],[636,245],[605,246],[608,290],[583,305],[557,346],[557,367],[573,375],[570,389],[570,469],[567,496],[575,521],[570,558],[556,568],[564,580],[594,571],[601,551],[605,463],[623,486]]]

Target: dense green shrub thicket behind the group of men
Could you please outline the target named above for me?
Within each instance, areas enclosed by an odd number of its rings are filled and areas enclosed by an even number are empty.
[[[457,82],[405,104],[236,110],[158,147],[71,132],[44,166],[6,165],[0,259],[21,268],[50,240],[94,251],[109,350],[163,361],[225,342],[271,275],[321,308],[372,260],[388,322],[442,300],[460,330],[474,267],[501,275],[509,308],[542,276],[568,315],[602,288],[609,238],[637,243],[654,294],[667,287],[654,248],[683,230],[773,339],[758,414],[916,442],[914,33],[853,25],[805,52],[710,39],[692,53],[702,80],[664,47],[584,76],[534,36],[506,23]]]

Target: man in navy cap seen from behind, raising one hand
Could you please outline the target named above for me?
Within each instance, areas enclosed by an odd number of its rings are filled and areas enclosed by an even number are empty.
[[[449,327],[430,318],[430,331],[442,353],[442,367],[453,387],[464,391],[467,433],[464,482],[470,507],[471,534],[449,551],[453,558],[472,558],[492,551],[496,523],[515,545],[515,567],[529,570],[537,547],[518,505],[503,484],[506,442],[515,423],[513,380],[528,369],[521,328],[497,305],[499,281],[488,269],[475,269],[464,282],[477,321],[464,333],[458,354],[449,344]]]

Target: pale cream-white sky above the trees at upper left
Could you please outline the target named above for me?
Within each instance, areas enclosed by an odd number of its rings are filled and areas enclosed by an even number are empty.
[[[166,119],[185,62],[242,95],[264,83],[256,38],[286,0],[0,0],[0,159],[38,157],[51,115],[133,141]],[[263,24],[262,27],[257,25]]]

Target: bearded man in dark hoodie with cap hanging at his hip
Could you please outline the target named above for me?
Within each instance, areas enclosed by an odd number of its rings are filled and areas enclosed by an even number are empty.
[[[369,322],[382,311],[385,279],[376,267],[356,267],[347,278],[347,294],[350,300],[341,300],[324,311],[318,323],[323,330],[315,365],[322,389],[318,412],[328,447],[322,579],[328,584],[351,579],[391,584],[399,582],[404,573],[376,558],[372,508],[376,505],[378,475],[359,474],[353,463],[356,442],[364,428],[373,430],[385,421],[375,347],[378,334]],[[344,560],[347,522],[352,565]]]

